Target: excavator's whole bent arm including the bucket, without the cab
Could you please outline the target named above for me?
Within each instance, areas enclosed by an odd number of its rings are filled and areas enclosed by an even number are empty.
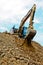
[[[35,36],[36,31],[33,31],[33,19],[34,19],[34,14],[35,14],[35,10],[36,10],[36,5],[34,4],[33,7],[28,11],[28,13],[24,16],[24,18],[21,20],[21,24],[18,30],[19,36],[21,36],[22,34],[22,29],[23,29],[23,25],[26,22],[26,20],[30,17],[30,22],[29,22],[29,27],[27,29],[27,33],[25,38],[29,38],[32,35],[32,38]],[[32,29],[32,30],[31,30]],[[31,39],[32,39],[31,38]]]

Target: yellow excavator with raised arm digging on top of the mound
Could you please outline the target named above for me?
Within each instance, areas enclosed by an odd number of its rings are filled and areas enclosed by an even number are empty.
[[[21,20],[19,29],[15,29],[16,30],[15,33],[18,33],[18,36],[20,38],[32,40],[34,38],[34,36],[36,35],[36,30],[34,30],[34,27],[33,27],[35,11],[36,11],[36,4],[34,4],[33,7],[28,11],[28,13],[23,17],[23,19]],[[29,17],[30,17],[29,26],[24,27],[24,24]],[[27,32],[24,35],[25,29],[27,30]]]

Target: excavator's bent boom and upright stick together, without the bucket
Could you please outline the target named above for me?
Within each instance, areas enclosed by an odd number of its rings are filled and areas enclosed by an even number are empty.
[[[28,29],[33,29],[33,19],[34,19],[34,14],[36,10],[36,5],[34,4],[33,7],[28,11],[28,13],[24,16],[24,18],[21,20],[21,24],[18,30],[19,35],[22,35],[22,30],[23,30],[23,25],[26,22],[26,20],[30,17],[30,23]],[[27,35],[27,33],[26,33]],[[27,37],[27,36],[26,36]]]

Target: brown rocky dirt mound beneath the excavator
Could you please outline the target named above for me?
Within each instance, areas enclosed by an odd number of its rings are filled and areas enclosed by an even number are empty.
[[[17,35],[0,33],[0,65],[43,65],[43,47]]]

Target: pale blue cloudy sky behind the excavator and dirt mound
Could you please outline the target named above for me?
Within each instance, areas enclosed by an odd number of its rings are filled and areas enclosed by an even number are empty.
[[[20,26],[22,18],[36,4],[34,29],[37,31],[34,41],[43,45],[43,0],[0,0],[0,32],[10,31],[13,25]],[[28,26],[29,19],[25,26]]]

